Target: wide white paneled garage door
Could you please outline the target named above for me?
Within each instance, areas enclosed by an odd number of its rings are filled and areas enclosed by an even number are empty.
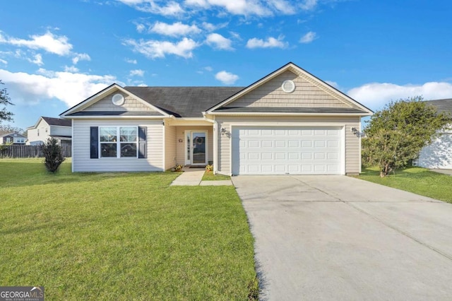
[[[232,129],[233,175],[339,175],[340,127]]]

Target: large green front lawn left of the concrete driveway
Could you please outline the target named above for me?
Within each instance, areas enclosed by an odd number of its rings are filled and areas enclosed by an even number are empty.
[[[176,173],[57,175],[0,160],[0,284],[46,300],[246,300],[253,238],[233,187]],[[252,285],[251,285],[252,286]],[[255,285],[254,285],[255,286]]]

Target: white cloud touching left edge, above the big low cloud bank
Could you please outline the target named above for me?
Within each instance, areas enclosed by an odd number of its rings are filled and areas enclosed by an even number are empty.
[[[30,40],[7,37],[0,32],[0,43],[30,49],[43,49],[46,52],[58,54],[59,56],[69,55],[72,49],[72,45],[66,36],[54,35],[49,31],[44,33],[44,35],[32,35]]]

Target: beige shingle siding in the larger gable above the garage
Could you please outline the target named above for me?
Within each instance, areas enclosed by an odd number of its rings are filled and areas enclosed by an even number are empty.
[[[295,82],[294,92],[283,91],[281,85],[286,80]],[[344,98],[326,92],[331,88],[317,86],[309,80],[285,71],[226,107],[356,107]]]

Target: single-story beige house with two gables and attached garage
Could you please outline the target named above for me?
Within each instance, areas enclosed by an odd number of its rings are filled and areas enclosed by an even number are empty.
[[[74,172],[212,161],[222,175],[354,175],[371,114],[289,63],[248,87],[113,84],[60,117],[73,122]]]

